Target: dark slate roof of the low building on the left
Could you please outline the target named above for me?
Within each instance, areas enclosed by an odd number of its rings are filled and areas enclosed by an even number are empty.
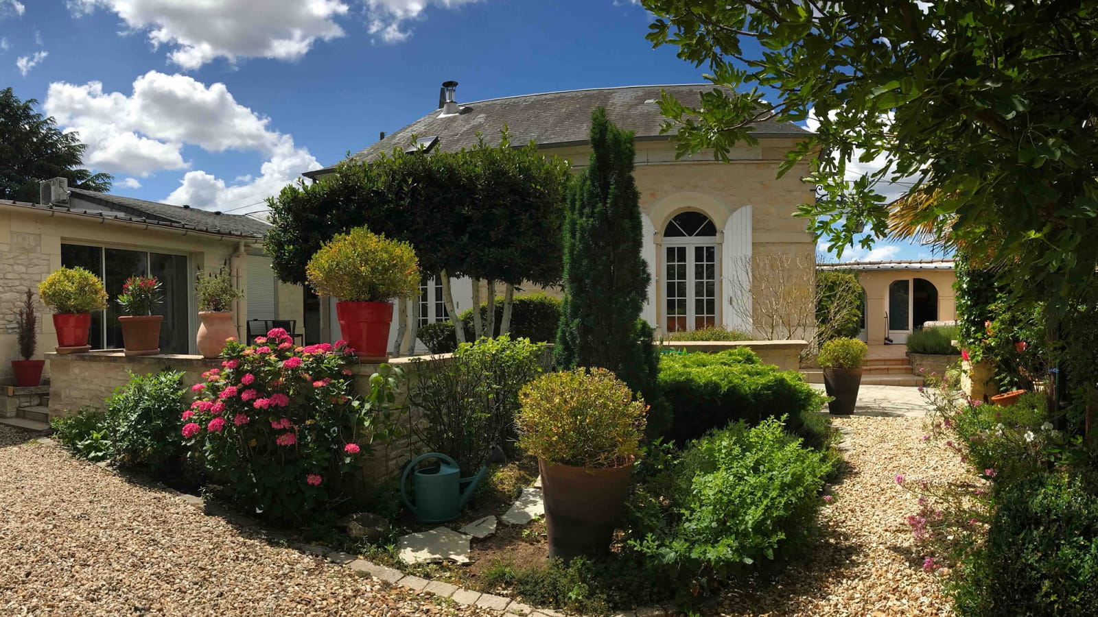
[[[223,235],[246,236],[261,238],[270,229],[270,225],[240,214],[219,214],[209,210],[198,207],[184,207],[155,201],[126,198],[110,193],[99,193],[86,191],[83,189],[69,189],[70,198],[78,197],[81,200],[90,201],[121,213],[116,218],[139,220],[141,222],[166,223],[168,226],[176,226],[199,232],[208,232]],[[65,206],[42,206],[42,207],[65,207]],[[72,212],[99,213],[90,209],[80,206],[68,206]],[[109,213],[105,213],[110,215]]]

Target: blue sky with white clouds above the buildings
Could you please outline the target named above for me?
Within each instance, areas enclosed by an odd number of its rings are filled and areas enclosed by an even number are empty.
[[[0,0],[0,78],[80,132],[113,192],[247,213],[446,79],[459,101],[701,81],[648,23],[628,0]]]

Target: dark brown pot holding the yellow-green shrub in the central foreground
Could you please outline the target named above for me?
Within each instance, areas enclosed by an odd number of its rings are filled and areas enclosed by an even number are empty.
[[[570,561],[580,556],[606,554],[614,521],[629,489],[632,462],[587,469],[538,460],[550,558]]]

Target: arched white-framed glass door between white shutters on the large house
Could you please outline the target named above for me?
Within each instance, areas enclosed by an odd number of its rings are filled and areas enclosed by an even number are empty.
[[[717,227],[701,212],[682,212],[663,229],[663,324],[684,332],[720,323]]]

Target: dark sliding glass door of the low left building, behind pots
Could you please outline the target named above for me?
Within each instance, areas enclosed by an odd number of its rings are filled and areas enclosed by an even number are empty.
[[[104,248],[75,244],[61,245],[61,265],[81,267],[103,280],[110,300],[105,311],[97,311],[91,318],[91,348],[117,349],[122,347],[122,328],[119,325],[119,304],[122,284],[133,276],[154,276],[164,287],[164,303],[156,314],[164,315],[160,324],[160,351],[187,354],[190,348],[190,310],[188,291],[190,276],[187,256]]]

